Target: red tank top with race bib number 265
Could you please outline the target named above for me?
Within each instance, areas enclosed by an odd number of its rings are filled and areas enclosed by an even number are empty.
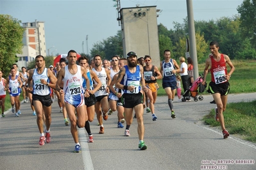
[[[210,73],[212,74],[212,82],[216,84],[220,84],[226,82],[226,63],[224,59],[224,55],[221,54],[221,59],[216,61],[213,56],[210,56],[210,60],[212,61],[212,66],[210,68]]]

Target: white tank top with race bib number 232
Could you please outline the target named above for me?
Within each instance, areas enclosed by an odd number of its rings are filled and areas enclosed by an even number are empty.
[[[72,74],[69,72],[68,66],[65,66],[64,76],[64,93],[67,95],[80,95],[84,93],[83,78],[81,76],[81,66],[77,65],[77,72]]]

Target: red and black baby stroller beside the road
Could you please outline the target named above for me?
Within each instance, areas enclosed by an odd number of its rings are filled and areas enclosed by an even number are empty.
[[[207,87],[207,83],[205,82],[205,85],[203,85],[202,82],[203,82],[203,77],[199,75],[196,81],[194,81],[192,85],[189,86],[189,89],[187,89],[184,94],[186,94],[187,91],[189,91],[191,94],[190,97],[194,98],[194,102],[197,102],[198,99],[203,100],[203,97],[201,95],[198,97],[198,88],[199,88],[199,93],[203,93],[203,91],[205,91],[205,88]],[[182,102],[186,102],[186,101],[187,101],[186,97],[183,95]]]

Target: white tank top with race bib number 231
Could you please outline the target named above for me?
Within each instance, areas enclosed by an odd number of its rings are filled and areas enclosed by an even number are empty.
[[[37,68],[35,68],[33,72],[33,94],[40,96],[49,95],[51,93],[51,89],[49,88],[49,86],[42,84],[41,79],[49,82],[49,77],[47,76],[47,68],[44,68],[44,72],[42,72],[41,74],[38,74]]]

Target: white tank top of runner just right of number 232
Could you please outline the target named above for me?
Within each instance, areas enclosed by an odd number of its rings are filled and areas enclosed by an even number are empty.
[[[107,88],[107,73],[105,68],[101,68],[101,72],[97,72],[95,68],[92,68],[92,71],[96,73],[96,75],[99,77],[99,81],[101,81],[101,87],[98,89],[98,91],[95,92],[95,96],[103,96],[103,95],[108,95],[106,88]],[[94,81],[94,84],[98,84],[97,82]]]

